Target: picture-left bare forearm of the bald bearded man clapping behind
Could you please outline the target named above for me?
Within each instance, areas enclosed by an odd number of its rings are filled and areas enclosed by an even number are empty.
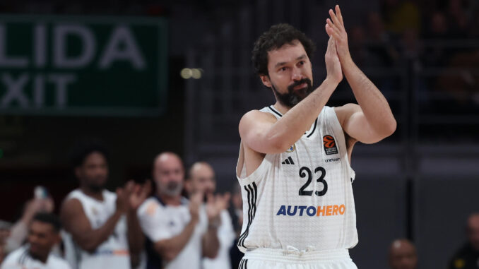
[[[160,240],[155,243],[155,251],[166,261],[174,260],[187,245],[196,227],[196,222],[190,221],[176,237]]]

